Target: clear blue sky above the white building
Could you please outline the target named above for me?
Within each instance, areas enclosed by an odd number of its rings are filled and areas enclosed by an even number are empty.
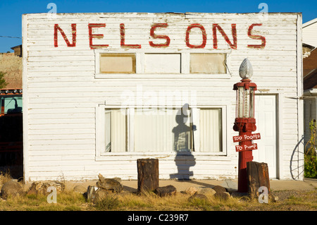
[[[0,36],[22,37],[22,14],[47,13],[49,3],[56,4],[57,13],[257,13],[261,11],[259,4],[266,3],[269,13],[303,13],[303,23],[317,18],[317,0],[0,0]],[[18,44],[22,44],[22,39],[0,37],[0,52],[12,51],[11,47]]]

